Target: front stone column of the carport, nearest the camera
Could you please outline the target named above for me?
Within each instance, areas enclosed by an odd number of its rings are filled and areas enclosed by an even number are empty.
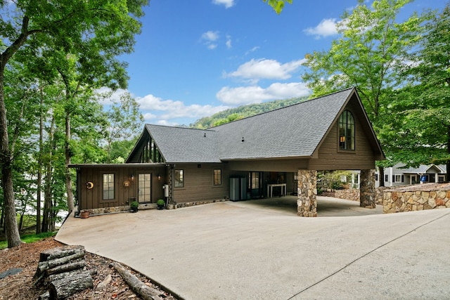
[[[317,171],[298,170],[297,215],[317,216]]]

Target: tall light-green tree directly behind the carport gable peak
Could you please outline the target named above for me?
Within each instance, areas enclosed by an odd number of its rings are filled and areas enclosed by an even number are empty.
[[[397,22],[399,11],[411,1],[375,0],[367,6],[360,0],[352,13],[346,12],[337,25],[341,37],[328,51],[307,55],[310,71],[303,79],[313,96],[355,86],[375,132],[385,129],[387,107],[396,101],[393,91],[402,84],[397,70],[417,46],[427,18],[413,13]],[[383,176],[383,168],[380,173]]]

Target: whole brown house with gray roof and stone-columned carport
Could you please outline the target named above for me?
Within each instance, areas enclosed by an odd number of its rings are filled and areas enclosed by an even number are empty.
[[[125,164],[70,167],[79,210],[299,193],[299,215],[315,216],[318,170],[369,171],[384,158],[356,89],[346,89],[206,130],[147,124]]]

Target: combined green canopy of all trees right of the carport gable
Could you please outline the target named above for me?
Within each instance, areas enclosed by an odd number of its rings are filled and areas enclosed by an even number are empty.
[[[303,79],[314,96],[356,86],[388,158],[380,167],[437,162],[448,141],[448,5],[440,17],[426,11],[398,22],[410,3],[360,1],[342,16],[330,49],[307,55]]]

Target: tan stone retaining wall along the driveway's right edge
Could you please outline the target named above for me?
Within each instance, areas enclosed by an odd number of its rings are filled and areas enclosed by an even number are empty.
[[[386,189],[383,193],[385,214],[437,208],[450,208],[450,183],[411,185],[406,188]]]

